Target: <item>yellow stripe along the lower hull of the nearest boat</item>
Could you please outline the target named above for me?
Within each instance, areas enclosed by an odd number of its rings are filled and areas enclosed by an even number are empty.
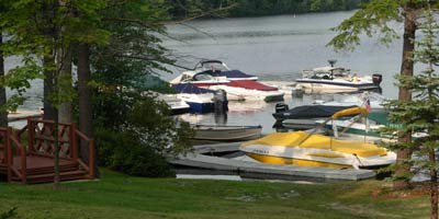
[[[260,161],[262,163],[270,163],[270,164],[293,164],[293,165],[303,165],[303,166],[352,169],[352,165],[344,165],[344,164],[327,163],[327,162],[319,162],[319,161],[281,158],[281,157],[273,157],[273,155],[262,155],[262,154],[256,154],[256,153],[248,153],[247,155],[249,155],[250,158],[252,158],[257,161]]]

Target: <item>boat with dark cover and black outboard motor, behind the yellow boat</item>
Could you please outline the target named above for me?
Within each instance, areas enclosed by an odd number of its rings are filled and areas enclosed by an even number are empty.
[[[302,105],[289,110],[286,104],[278,103],[273,117],[283,127],[293,129],[314,128],[316,120],[326,119],[335,113],[353,106],[326,106],[326,105]]]

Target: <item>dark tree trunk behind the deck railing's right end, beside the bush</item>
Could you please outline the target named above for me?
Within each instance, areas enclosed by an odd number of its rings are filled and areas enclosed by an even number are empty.
[[[81,43],[78,46],[78,95],[79,95],[79,130],[87,137],[93,138],[93,111],[91,89],[89,82],[90,72],[90,45]],[[97,154],[94,152],[94,154]],[[86,142],[80,142],[81,159],[89,163],[89,149]],[[94,155],[94,173],[99,177],[97,157]]]

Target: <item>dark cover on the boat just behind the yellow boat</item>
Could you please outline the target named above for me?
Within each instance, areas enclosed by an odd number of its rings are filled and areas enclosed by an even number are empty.
[[[285,112],[273,113],[273,116],[277,120],[331,117],[335,113],[351,107],[357,106],[303,105],[296,106]]]

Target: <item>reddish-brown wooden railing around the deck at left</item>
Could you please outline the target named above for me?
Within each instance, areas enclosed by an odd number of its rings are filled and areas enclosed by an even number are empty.
[[[88,173],[89,178],[94,178],[94,141],[76,129],[75,124],[59,123],[58,129],[52,120],[27,119],[27,125],[12,135],[12,128],[0,127],[0,166],[7,169],[8,181],[18,177],[26,183],[27,168],[26,159],[30,155],[54,158],[55,137],[58,136],[60,159],[76,162]],[[58,130],[56,132],[56,130]],[[27,137],[24,135],[27,134]],[[26,142],[27,147],[23,146]],[[79,158],[78,142],[88,148],[88,164]],[[19,163],[14,163],[19,162]],[[4,170],[4,169],[3,169]]]

